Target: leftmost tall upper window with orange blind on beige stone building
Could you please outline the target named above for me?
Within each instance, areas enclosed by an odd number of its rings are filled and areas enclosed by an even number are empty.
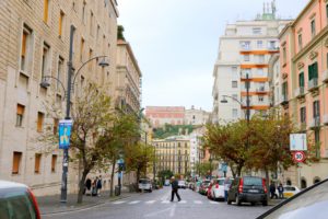
[[[22,50],[21,50],[21,70],[28,70],[28,56],[31,54],[32,30],[24,24],[22,35]]]

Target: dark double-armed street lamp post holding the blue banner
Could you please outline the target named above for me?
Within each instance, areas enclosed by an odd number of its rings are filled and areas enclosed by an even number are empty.
[[[74,39],[73,36],[74,36],[74,32],[75,32],[75,27],[73,25],[71,25],[67,90],[65,90],[63,83],[58,78],[55,78],[55,77],[51,77],[51,76],[43,77],[43,79],[42,79],[43,81],[40,82],[40,85],[44,87],[44,88],[47,88],[47,87],[50,85],[50,83],[47,82],[47,79],[55,79],[58,82],[60,82],[60,84],[61,84],[61,87],[62,87],[62,89],[66,93],[66,97],[67,97],[66,99],[66,116],[65,116],[65,119],[70,119],[72,85],[75,83],[77,76],[79,74],[82,67],[84,67],[87,62],[90,62],[94,59],[107,57],[107,56],[97,56],[97,57],[91,58],[87,61],[85,61],[84,64],[82,64],[82,66],[78,69],[78,71],[77,71],[77,73],[73,78],[73,82],[72,82],[72,71],[73,71],[72,59],[73,59],[73,39]],[[109,66],[109,64],[106,62],[105,60],[102,60],[98,65],[101,67]],[[68,159],[69,159],[68,148],[66,148],[66,149],[63,149],[63,158],[62,158],[62,176],[61,176],[60,203],[67,203]]]

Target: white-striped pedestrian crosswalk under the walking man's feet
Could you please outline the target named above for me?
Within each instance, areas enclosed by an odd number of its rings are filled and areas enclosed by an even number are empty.
[[[174,203],[178,204],[178,205],[219,205],[220,203],[218,201],[213,201],[213,200],[180,200],[177,201],[175,200]],[[137,205],[137,204],[141,204],[141,205],[154,205],[154,204],[172,204],[169,200],[116,200],[114,203],[112,203],[113,205]]]

